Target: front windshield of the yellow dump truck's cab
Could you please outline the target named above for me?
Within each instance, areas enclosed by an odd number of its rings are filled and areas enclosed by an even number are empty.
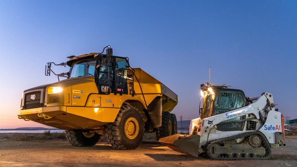
[[[70,78],[76,78],[80,76],[94,76],[96,60],[84,59],[75,62],[70,68]]]

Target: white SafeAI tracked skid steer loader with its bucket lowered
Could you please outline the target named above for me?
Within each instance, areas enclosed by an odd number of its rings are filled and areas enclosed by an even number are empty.
[[[268,159],[271,148],[285,146],[284,117],[274,109],[272,94],[249,98],[230,85],[200,86],[201,116],[191,120],[189,135],[175,134],[159,143],[216,160]]]

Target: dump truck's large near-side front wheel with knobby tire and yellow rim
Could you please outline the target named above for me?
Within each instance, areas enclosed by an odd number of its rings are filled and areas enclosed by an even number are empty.
[[[123,105],[113,123],[105,126],[105,135],[114,149],[136,149],[144,135],[143,118],[133,106]]]

